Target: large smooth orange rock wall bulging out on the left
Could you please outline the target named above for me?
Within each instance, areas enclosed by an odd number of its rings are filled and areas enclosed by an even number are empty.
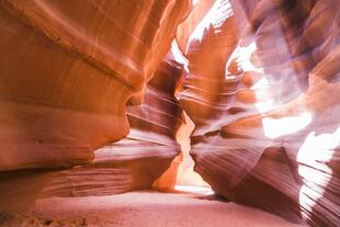
[[[182,0],[1,1],[0,171],[89,163],[126,136],[126,103],[141,102],[188,10]],[[25,191],[18,175],[21,191],[1,193],[0,209],[47,181]]]

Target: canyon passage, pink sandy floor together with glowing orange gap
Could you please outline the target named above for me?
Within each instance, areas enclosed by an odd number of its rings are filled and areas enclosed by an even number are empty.
[[[215,196],[209,185],[193,170],[190,134],[194,124],[185,112],[183,117],[175,136],[182,154],[154,182],[158,191],[39,198],[30,213],[2,216],[2,219],[8,218],[3,226],[225,227],[226,223],[227,226],[239,227],[303,226]],[[171,182],[174,180],[175,184]]]

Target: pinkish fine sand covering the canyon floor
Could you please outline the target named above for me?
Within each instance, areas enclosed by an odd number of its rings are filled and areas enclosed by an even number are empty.
[[[12,226],[297,226],[256,208],[211,197],[140,191],[111,196],[43,198],[36,202],[31,216],[15,216],[16,224],[12,220]]]

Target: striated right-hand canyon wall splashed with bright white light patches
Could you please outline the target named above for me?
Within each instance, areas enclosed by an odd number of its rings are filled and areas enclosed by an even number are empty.
[[[339,1],[196,5],[178,35],[195,170],[230,201],[339,226]]]

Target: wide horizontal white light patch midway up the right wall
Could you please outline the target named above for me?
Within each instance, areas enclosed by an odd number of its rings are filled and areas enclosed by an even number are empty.
[[[306,112],[298,116],[286,116],[281,118],[264,117],[263,132],[269,138],[287,135],[303,129],[311,122],[311,114]]]

